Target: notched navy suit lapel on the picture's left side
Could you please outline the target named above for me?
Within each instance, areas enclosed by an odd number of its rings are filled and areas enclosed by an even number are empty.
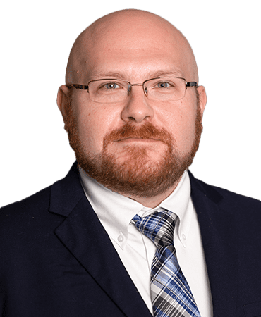
[[[50,211],[66,216],[56,236],[119,309],[129,317],[151,316],[87,201],[75,164],[66,178],[52,186]]]

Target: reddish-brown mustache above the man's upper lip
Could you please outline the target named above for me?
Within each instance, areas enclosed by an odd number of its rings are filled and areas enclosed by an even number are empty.
[[[144,123],[136,127],[132,123],[126,123],[119,129],[112,130],[104,137],[104,149],[111,142],[117,142],[121,139],[157,139],[166,144],[171,144],[173,137],[164,128],[156,128],[152,123]]]

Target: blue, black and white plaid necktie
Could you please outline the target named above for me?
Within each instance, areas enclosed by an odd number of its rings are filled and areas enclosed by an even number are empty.
[[[151,269],[154,317],[200,317],[193,294],[176,258],[173,213],[159,211],[144,218],[136,215],[133,222],[157,247]]]

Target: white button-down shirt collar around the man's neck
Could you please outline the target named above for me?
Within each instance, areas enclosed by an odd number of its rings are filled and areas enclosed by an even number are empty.
[[[174,192],[169,195],[159,206],[154,209],[147,208],[138,201],[111,191],[99,182],[87,175],[79,167],[80,180],[85,191],[87,199],[92,208],[107,231],[109,237],[124,249],[128,241],[128,225],[130,220],[138,214],[141,217],[147,216],[160,207],[172,211],[178,216],[176,226],[178,226],[178,237],[184,245],[186,242],[183,237],[188,235],[191,215],[188,211],[188,201],[190,199],[190,180],[188,171],[178,183]],[[184,245],[185,247],[186,245]]]

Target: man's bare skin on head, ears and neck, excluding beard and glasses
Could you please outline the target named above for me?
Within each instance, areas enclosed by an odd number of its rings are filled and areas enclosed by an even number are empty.
[[[187,82],[198,82],[197,63],[186,37],[169,21],[154,13],[116,11],[96,20],[75,39],[66,68],[66,85],[59,87],[57,105],[66,122],[68,85],[87,85],[90,80],[108,77],[142,83],[159,73],[164,77],[173,73],[186,78]],[[198,90],[198,104],[195,89]],[[97,104],[80,89],[73,88],[72,92],[78,136],[80,142],[86,144],[85,153],[89,156],[100,154],[104,136],[126,123],[136,128],[145,123],[164,128],[174,139],[178,154],[185,156],[195,139],[197,107],[202,119],[206,101],[202,86],[188,88],[183,99],[172,103],[148,100],[140,86],[133,87],[125,102],[115,104]],[[107,152],[116,155],[118,163],[124,163],[130,160],[127,150],[130,147],[145,148],[149,157],[147,164],[157,163],[167,150],[166,144],[159,139],[128,138],[109,143]],[[174,191],[178,181],[154,197],[118,192],[144,206],[154,207]]]

